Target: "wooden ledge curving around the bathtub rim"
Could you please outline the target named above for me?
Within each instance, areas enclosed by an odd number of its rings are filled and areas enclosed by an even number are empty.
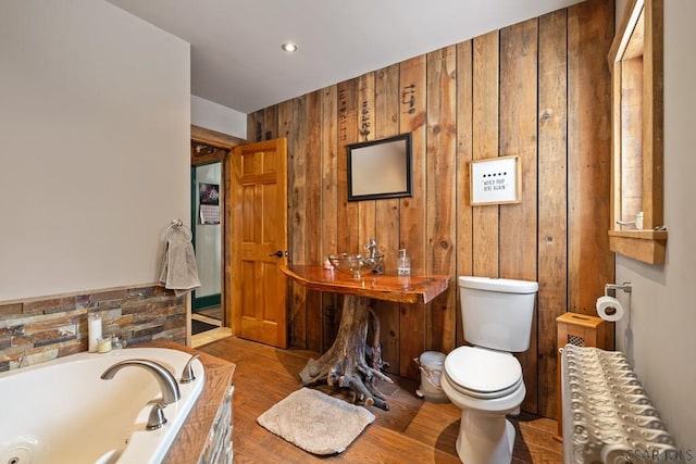
[[[134,344],[134,347],[136,347]],[[137,347],[170,348],[189,354],[199,354],[199,361],[206,368],[206,384],[196,404],[188,413],[163,463],[197,463],[206,449],[210,429],[217,410],[224,402],[232,385],[235,364],[210,354],[197,351],[179,343],[166,340],[138,343]],[[127,350],[127,348],[126,348]]]

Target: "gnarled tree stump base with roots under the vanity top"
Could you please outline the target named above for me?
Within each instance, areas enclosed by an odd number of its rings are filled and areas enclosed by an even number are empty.
[[[306,387],[327,384],[349,388],[353,402],[374,404],[388,411],[386,397],[375,384],[377,379],[393,381],[381,372],[384,363],[378,347],[378,321],[374,313],[375,346],[370,347],[366,341],[371,313],[370,298],[346,294],[334,344],[319,360],[309,360],[300,372],[300,379]],[[371,353],[372,366],[368,364],[368,353]]]

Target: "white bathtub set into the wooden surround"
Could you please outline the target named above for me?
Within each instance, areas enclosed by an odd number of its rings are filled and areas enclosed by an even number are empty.
[[[78,353],[0,374],[0,463],[159,463],[203,387],[203,366],[192,363],[196,380],[179,384],[182,398],[164,409],[167,423],[146,424],[161,398],[152,374],[122,368],[111,380],[101,373],[128,359],[156,361],[178,379],[190,354],[164,348],[127,348]]]

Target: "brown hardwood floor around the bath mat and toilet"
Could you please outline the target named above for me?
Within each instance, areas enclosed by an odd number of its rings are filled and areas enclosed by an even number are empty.
[[[237,365],[234,376],[233,441],[235,463],[459,463],[455,442],[460,410],[451,403],[419,399],[418,383],[390,376],[395,384],[380,384],[389,411],[369,407],[374,423],[346,451],[315,456],[257,424],[257,417],[287,394],[301,388],[298,373],[309,358],[306,350],[278,350],[236,337],[199,347],[198,350]],[[319,390],[345,398],[328,386]],[[512,419],[517,439],[512,462],[562,463],[562,446],[551,437],[556,421],[522,414]],[[340,427],[340,424],[336,424]],[[474,463],[475,464],[475,463]]]

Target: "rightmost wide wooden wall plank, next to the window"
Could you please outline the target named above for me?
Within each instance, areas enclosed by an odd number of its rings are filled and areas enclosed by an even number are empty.
[[[612,2],[592,0],[568,9],[568,311],[582,314],[596,314],[597,297],[613,281],[606,231],[611,78],[599,59],[611,46],[613,23]],[[611,349],[613,331],[607,337]]]

